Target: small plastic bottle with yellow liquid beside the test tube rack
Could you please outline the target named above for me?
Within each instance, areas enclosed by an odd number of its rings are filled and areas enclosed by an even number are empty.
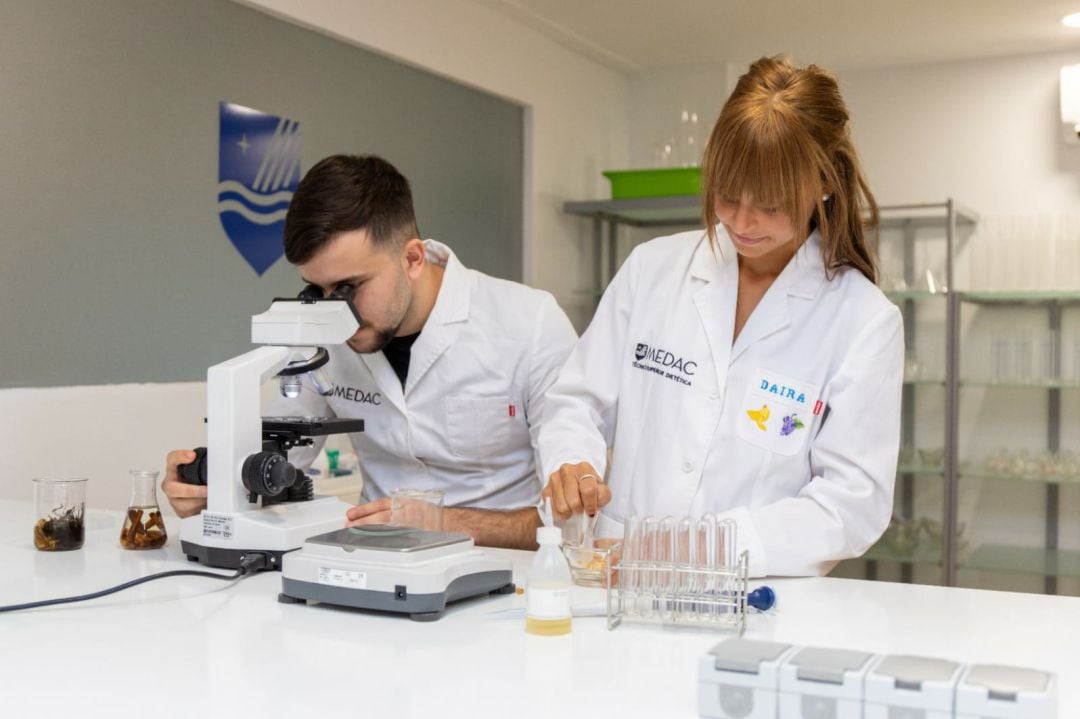
[[[570,632],[570,566],[559,550],[563,530],[540,527],[537,530],[540,550],[526,580],[525,630],[529,634],[555,636]]]

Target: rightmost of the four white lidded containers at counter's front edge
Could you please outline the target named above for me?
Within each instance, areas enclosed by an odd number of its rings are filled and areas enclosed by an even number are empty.
[[[1038,669],[974,664],[956,689],[957,719],[1054,719],[1057,678]]]

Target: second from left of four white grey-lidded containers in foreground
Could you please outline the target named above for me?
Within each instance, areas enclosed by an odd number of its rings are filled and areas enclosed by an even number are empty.
[[[873,654],[807,647],[780,667],[780,719],[862,719]]]

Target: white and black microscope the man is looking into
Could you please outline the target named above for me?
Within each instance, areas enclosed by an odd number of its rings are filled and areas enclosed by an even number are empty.
[[[308,287],[296,298],[275,298],[252,317],[252,342],[262,344],[206,372],[207,447],[179,467],[180,478],[207,487],[206,508],[180,525],[180,547],[191,561],[237,569],[251,553],[280,569],[282,555],[306,539],[339,529],[348,505],[315,497],[310,477],[288,462],[293,447],[313,437],[363,432],[361,419],[261,417],[261,385],[278,377],[281,393],[301,388],[333,392],[323,367],[326,345],[342,344],[360,328],[351,291],[328,297]],[[308,382],[303,382],[308,379]]]

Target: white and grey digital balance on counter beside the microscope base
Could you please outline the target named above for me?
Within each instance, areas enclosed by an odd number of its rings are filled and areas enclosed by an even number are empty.
[[[319,601],[430,622],[458,599],[514,592],[510,559],[457,532],[338,529],[308,539],[283,559],[278,600],[285,603]]]

